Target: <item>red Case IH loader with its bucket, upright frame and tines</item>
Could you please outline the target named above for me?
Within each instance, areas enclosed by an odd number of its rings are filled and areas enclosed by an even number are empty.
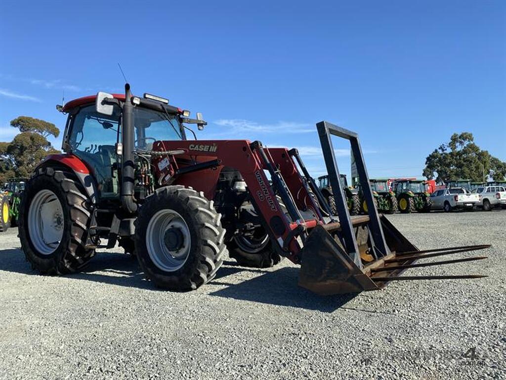
[[[419,251],[378,214],[357,134],[327,122],[318,123],[317,130],[338,215],[330,214],[296,149],[266,148],[259,141],[157,141],[153,144],[153,164],[158,170],[158,184],[191,185],[213,199],[220,171],[224,167],[237,170],[278,251],[302,265],[299,284],[319,294],[376,290],[392,280],[484,277],[399,276],[409,268],[483,259],[415,263],[426,257],[489,246],[441,248],[429,254]],[[331,136],[350,141],[368,208],[365,216],[350,216]],[[306,213],[303,217],[306,211],[313,216],[307,217]]]

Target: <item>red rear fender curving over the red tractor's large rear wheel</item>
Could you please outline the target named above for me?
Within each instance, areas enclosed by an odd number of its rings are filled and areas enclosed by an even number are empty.
[[[86,194],[92,200],[93,203],[97,201],[97,184],[93,179],[93,175],[90,173],[90,169],[83,163],[77,156],[72,154],[59,154],[46,156],[43,162],[41,162],[38,168],[45,167],[56,167],[56,168],[67,168],[70,169],[79,182],[85,188]]]

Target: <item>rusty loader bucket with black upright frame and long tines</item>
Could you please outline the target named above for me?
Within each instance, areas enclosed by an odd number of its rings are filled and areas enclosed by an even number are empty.
[[[377,290],[390,281],[470,279],[482,275],[457,276],[400,276],[410,268],[431,267],[463,261],[481,260],[486,257],[466,257],[453,260],[427,262],[429,257],[485,249],[490,245],[419,250],[382,214],[378,214],[365,168],[362,150],[355,132],[328,122],[317,125],[323,157],[332,187],[337,215],[320,223],[309,231],[301,251],[299,285],[321,295],[356,293]],[[359,180],[367,204],[366,216],[350,216],[346,197],[339,181],[340,173],[334,157],[330,137],[337,136],[350,141],[353,172]],[[306,176],[309,175],[300,158],[296,157]],[[312,183],[312,181],[310,181]],[[319,190],[313,186],[317,198]]]

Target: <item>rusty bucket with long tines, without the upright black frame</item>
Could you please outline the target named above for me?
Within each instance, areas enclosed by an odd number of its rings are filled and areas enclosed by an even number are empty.
[[[363,217],[362,217],[363,218]],[[481,275],[460,276],[399,276],[410,268],[430,267],[463,261],[481,260],[486,257],[467,257],[455,260],[415,263],[419,259],[489,248],[490,245],[475,245],[420,251],[411,244],[384,216],[379,219],[390,253],[375,259],[372,255],[367,225],[355,226],[362,265],[357,265],[341,243],[340,225],[333,231],[322,225],[309,234],[302,250],[299,285],[320,295],[359,293],[378,290],[395,280],[469,279],[486,277]],[[360,241],[360,231],[366,231],[368,241]],[[364,235],[364,234],[362,234]],[[364,239],[362,237],[362,239]],[[360,268],[361,267],[361,268]]]

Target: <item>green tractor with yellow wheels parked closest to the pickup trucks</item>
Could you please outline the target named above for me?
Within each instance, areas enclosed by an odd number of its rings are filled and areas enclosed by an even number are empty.
[[[392,188],[397,196],[400,212],[429,212],[431,210],[431,195],[427,191],[425,181],[398,179],[392,183]]]

